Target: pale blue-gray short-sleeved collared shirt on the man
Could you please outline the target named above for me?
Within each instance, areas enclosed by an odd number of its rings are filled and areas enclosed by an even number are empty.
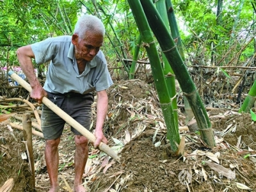
[[[37,65],[51,61],[44,90],[86,94],[109,88],[113,81],[103,52],[99,51],[92,61],[88,61],[84,72],[79,75],[71,40],[72,36],[58,36],[31,45]]]

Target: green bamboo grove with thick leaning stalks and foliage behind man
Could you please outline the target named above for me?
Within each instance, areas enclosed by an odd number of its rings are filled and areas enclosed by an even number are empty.
[[[2,1],[0,65],[18,65],[17,47],[49,36],[72,34],[77,16],[97,15],[106,26],[102,49],[113,77],[136,79],[141,71],[146,72],[145,76],[152,73],[173,152],[180,142],[175,79],[185,96],[186,122],[195,115],[202,139],[213,147],[205,93],[195,86],[188,68],[214,67],[214,75],[221,74],[227,83],[231,81],[230,75],[239,74],[239,84],[229,91],[237,90],[239,112],[250,111],[256,97],[252,70],[256,64],[255,7],[256,2],[250,0],[61,0],[52,1],[51,6],[44,0]],[[150,63],[149,72],[146,61]],[[210,86],[212,81],[205,77],[203,83]],[[251,90],[241,100],[246,87]]]

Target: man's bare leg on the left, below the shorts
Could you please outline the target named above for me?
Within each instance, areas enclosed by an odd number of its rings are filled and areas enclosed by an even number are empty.
[[[50,177],[51,188],[49,192],[58,192],[58,165],[59,165],[59,153],[58,145],[60,138],[56,140],[45,140],[45,161],[47,166],[47,172]]]

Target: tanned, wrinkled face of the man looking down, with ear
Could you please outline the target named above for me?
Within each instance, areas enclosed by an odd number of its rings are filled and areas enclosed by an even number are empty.
[[[103,36],[87,31],[83,39],[76,34],[72,36],[72,44],[75,46],[76,60],[92,61],[103,44]]]

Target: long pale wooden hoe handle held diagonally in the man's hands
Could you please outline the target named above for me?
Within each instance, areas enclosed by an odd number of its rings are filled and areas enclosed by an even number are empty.
[[[17,74],[15,74],[15,72],[9,71],[8,76],[12,77],[15,81],[17,81],[22,87],[24,87],[26,90],[28,90],[29,93],[31,92],[32,88],[31,88],[30,84],[28,84],[21,77],[19,77]],[[74,120],[74,118],[69,116],[58,106],[53,104],[51,102],[51,100],[49,100],[47,97],[44,97],[42,99],[42,102],[45,104],[45,106],[50,108],[54,113],[56,113],[58,116],[63,118],[63,120],[65,120],[65,122],[67,122],[69,125],[74,127],[77,131],[81,132],[81,134],[83,134],[83,136],[88,138],[89,141],[92,141],[93,143],[96,141],[96,138],[95,138],[94,134],[92,134],[92,132],[88,131],[87,129],[84,129],[84,127],[81,124],[79,124],[76,120]],[[103,152],[105,152],[106,154],[108,154],[109,156],[113,157],[113,159],[115,159],[116,161],[118,161],[120,163],[120,157],[118,157],[116,155],[116,153],[113,152],[113,150],[111,150],[111,148],[109,148],[108,145],[100,142],[99,149],[102,150]]]

